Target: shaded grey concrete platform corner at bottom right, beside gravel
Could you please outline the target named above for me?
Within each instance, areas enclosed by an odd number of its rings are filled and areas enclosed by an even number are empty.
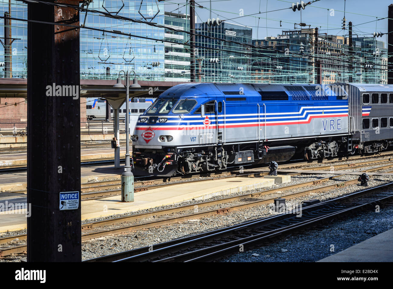
[[[393,229],[318,262],[393,262]]]

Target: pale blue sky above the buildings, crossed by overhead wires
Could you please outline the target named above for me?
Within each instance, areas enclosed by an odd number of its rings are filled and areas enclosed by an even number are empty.
[[[185,2],[185,0],[165,1],[165,11],[177,12],[179,7],[179,11],[185,13]],[[374,31],[387,32],[387,19],[378,21],[376,19],[387,17],[387,7],[393,3],[393,0],[319,0],[307,5],[304,10],[301,9],[301,12],[289,9],[293,2],[285,0],[196,0],[196,4],[204,8],[196,7],[195,11],[197,22],[205,22],[210,18],[211,13],[211,18],[218,16],[222,20],[229,19],[228,22],[252,27],[253,38],[257,39],[276,36],[281,34],[281,30],[294,29],[294,24],[300,22],[311,25],[311,28],[320,27],[320,33],[342,36],[344,2],[345,18],[347,24],[352,21],[353,34],[357,33],[359,37],[362,37],[371,36]],[[274,11],[283,8],[287,9]],[[274,12],[265,13],[266,11]],[[189,8],[187,8],[188,13]],[[241,13],[244,16],[241,16]],[[251,14],[254,15],[248,16]],[[233,19],[235,17],[236,19]],[[345,30],[345,34],[347,33],[348,30]],[[387,35],[378,37],[378,40],[387,42]]]

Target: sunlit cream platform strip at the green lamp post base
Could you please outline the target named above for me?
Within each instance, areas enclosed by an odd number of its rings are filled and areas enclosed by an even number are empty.
[[[285,181],[290,181],[285,176]],[[246,190],[271,187],[273,178],[245,178],[233,177],[230,179],[219,179],[195,183],[178,184],[170,187],[156,188],[147,191],[136,192],[134,202],[123,203],[121,196],[113,196],[103,199],[82,201],[82,220],[112,216],[126,212],[150,209],[163,205],[174,205],[192,199],[203,200],[212,196],[242,192]],[[0,215],[0,232],[7,230],[22,230],[26,228],[25,214],[3,214]]]

